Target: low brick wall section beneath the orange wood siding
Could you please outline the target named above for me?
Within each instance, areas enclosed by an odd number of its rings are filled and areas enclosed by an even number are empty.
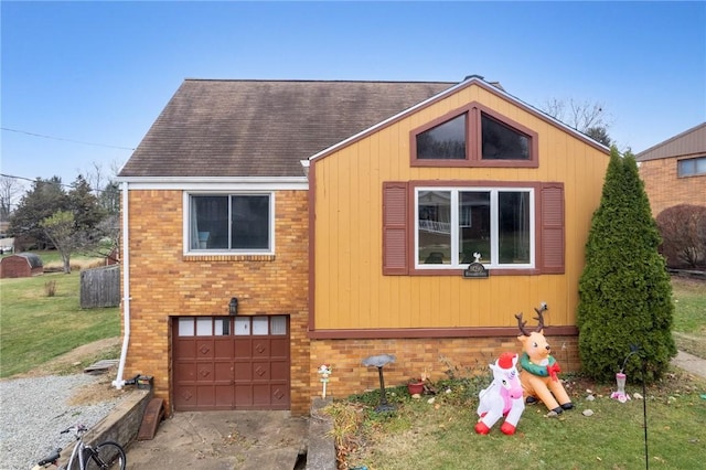
[[[577,337],[547,337],[553,355],[563,372],[580,368]],[[469,376],[495,362],[505,351],[522,352],[516,337],[511,338],[451,338],[408,340],[312,340],[311,341],[311,397],[320,396],[322,386],[317,370],[330,364],[332,374],[327,385],[327,396],[343,398],[366,389],[379,388],[376,367],[361,364],[363,359],[376,354],[393,354],[396,360],[383,367],[385,386],[406,384],[422,372],[431,381],[448,378],[445,373],[458,367],[457,376]]]

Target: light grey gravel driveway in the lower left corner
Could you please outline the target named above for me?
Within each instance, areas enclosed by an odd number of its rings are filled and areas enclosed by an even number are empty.
[[[100,378],[76,374],[0,381],[0,469],[31,469],[53,449],[72,442],[73,435],[61,435],[62,430],[75,424],[90,428],[106,417],[119,398],[68,404],[79,388]]]

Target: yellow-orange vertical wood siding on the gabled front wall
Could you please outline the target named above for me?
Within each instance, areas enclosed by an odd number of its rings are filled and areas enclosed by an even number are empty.
[[[538,168],[411,168],[409,131],[477,100],[538,133]],[[547,302],[549,325],[574,325],[584,246],[600,202],[608,156],[477,86],[420,109],[315,165],[315,330],[516,327]],[[563,275],[382,275],[385,181],[490,180],[565,183]],[[538,197],[538,194],[535,194]]]

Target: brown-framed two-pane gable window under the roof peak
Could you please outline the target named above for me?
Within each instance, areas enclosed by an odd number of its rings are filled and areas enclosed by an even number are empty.
[[[537,133],[479,104],[410,132],[413,167],[538,167]]]

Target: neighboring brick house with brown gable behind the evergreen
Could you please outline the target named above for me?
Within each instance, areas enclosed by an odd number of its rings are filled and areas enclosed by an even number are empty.
[[[652,215],[677,204],[706,206],[706,122],[638,153]]]

